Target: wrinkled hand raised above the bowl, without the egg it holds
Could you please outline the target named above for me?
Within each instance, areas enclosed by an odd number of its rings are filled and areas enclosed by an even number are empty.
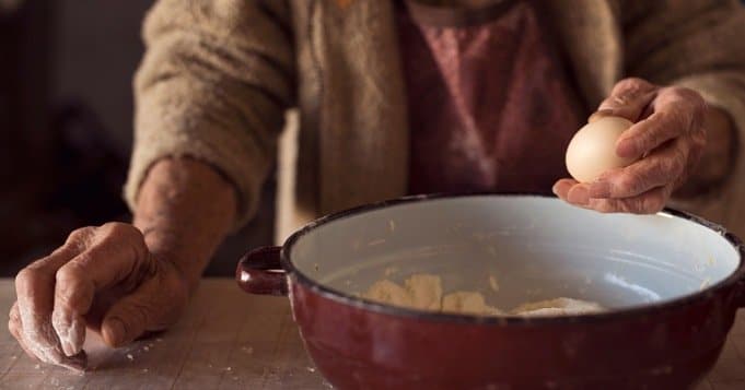
[[[616,154],[639,158],[595,182],[561,179],[554,192],[564,201],[600,212],[656,213],[685,182],[706,144],[707,105],[695,91],[626,79],[590,117],[619,116],[635,125],[616,143]]]

